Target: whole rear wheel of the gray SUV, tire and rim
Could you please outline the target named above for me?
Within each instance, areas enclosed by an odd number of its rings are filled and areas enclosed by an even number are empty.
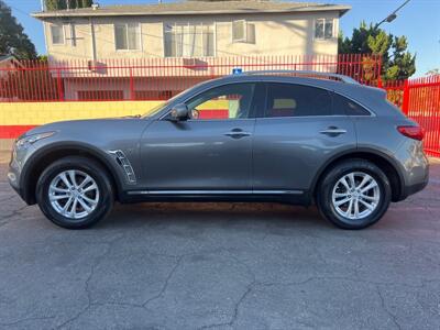
[[[317,205],[337,227],[363,229],[383,217],[391,198],[389,180],[381,168],[364,160],[348,160],[324,175]]]

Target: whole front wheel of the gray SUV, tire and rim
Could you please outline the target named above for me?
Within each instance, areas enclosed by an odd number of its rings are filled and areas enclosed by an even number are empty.
[[[55,224],[88,228],[105,218],[113,206],[107,170],[86,157],[65,157],[51,164],[36,186],[40,209]]]

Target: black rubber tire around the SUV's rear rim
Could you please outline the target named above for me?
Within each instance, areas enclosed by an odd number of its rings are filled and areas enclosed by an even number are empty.
[[[362,219],[350,219],[343,217],[337,211],[337,207],[333,206],[332,202],[334,186],[344,175],[352,172],[370,175],[376,180],[378,186],[378,202],[376,204],[375,209]],[[323,178],[318,185],[316,197],[318,209],[327,220],[339,228],[356,230],[376,223],[384,216],[392,199],[392,189],[387,176],[380,167],[369,161],[353,158],[338,163],[324,173]]]

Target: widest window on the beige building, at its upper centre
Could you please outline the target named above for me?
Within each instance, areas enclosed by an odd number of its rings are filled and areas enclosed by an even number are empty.
[[[165,24],[165,57],[215,56],[213,23]]]

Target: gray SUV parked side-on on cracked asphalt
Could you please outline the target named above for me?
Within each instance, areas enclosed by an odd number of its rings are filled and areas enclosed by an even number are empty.
[[[33,129],[9,182],[54,223],[90,227],[114,201],[316,204],[375,223],[428,183],[422,130],[385,91],[332,74],[248,73],[199,84],[147,116]]]

